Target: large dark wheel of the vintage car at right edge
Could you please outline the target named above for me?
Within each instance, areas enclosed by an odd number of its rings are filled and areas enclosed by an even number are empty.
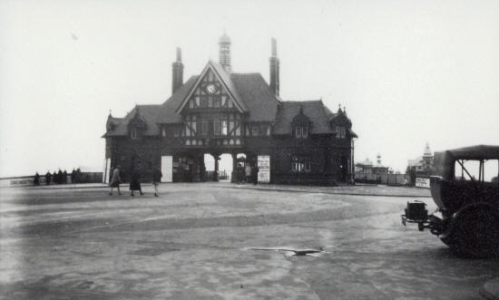
[[[456,219],[451,247],[461,256],[499,254],[499,216],[491,210],[466,211]]]

